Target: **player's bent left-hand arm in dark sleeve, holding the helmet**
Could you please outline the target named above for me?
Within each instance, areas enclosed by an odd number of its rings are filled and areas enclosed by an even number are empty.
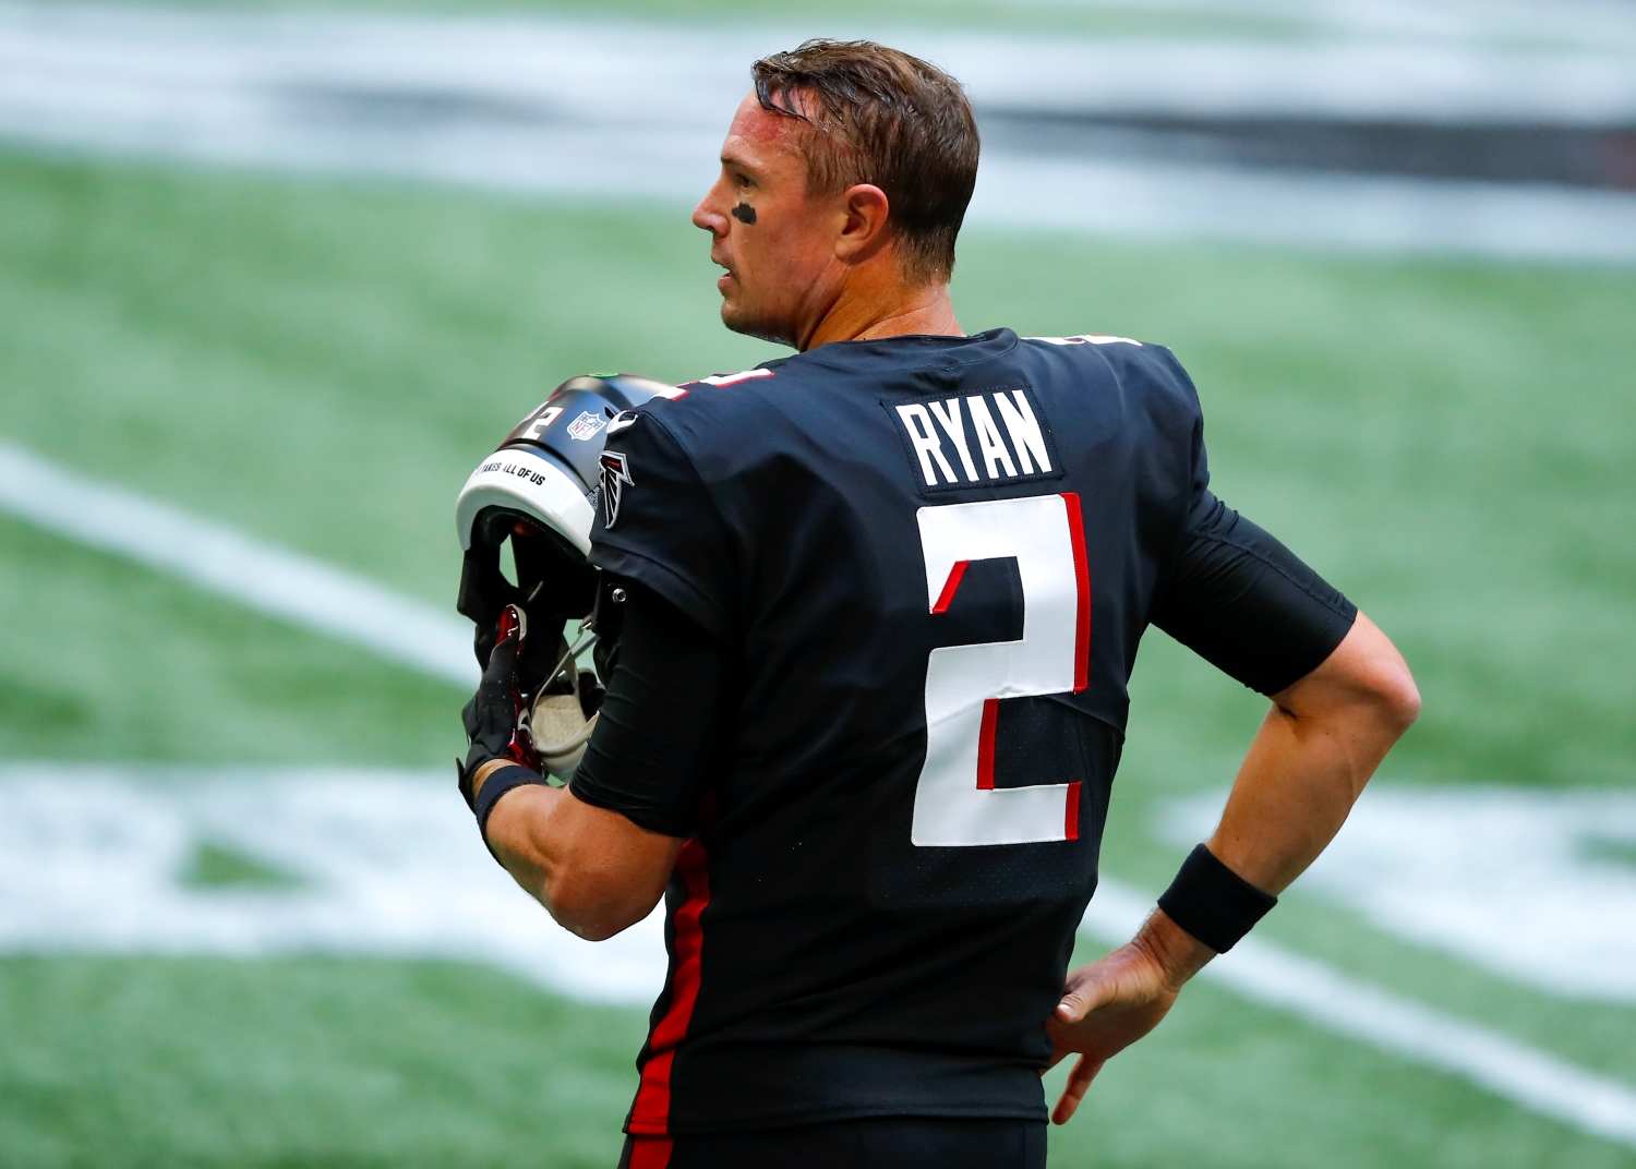
[[[591,561],[622,582],[627,600],[597,729],[568,788],[528,775],[486,821],[479,814],[489,849],[517,883],[591,940],[641,920],[664,894],[697,827],[736,661],[721,600],[733,593],[723,579],[733,554],[690,459],[646,410],[618,428],[605,456],[618,459],[622,479],[604,479]],[[506,644],[491,672],[507,669]],[[510,688],[486,674],[478,692],[479,700],[489,693],[494,729],[468,726],[468,734],[492,739],[491,755],[510,736]],[[468,759],[468,768],[494,777],[501,786],[491,791],[517,780],[502,759]],[[484,806],[481,791],[473,803]]]

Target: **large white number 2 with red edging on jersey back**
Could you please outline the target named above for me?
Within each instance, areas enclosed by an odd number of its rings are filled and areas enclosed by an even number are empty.
[[[995,786],[1003,698],[1085,690],[1091,584],[1080,497],[1032,495],[923,507],[921,551],[933,613],[949,608],[972,561],[1016,558],[1022,639],[941,646],[926,664],[926,767],[911,840],[928,847],[1073,840],[1080,785]],[[1032,778],[1032,777],[1031,777]]]

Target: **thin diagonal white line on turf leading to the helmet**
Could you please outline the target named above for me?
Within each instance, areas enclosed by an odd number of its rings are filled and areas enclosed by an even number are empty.
[[[0,508],[432,677],[478,682],[465,618],[3,440]]]

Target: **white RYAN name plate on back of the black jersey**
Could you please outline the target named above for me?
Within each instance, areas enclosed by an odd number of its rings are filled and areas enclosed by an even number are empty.
[[[921,490],[1062,474],[1050,425],[1026,386],[882,405],[903,437]]]

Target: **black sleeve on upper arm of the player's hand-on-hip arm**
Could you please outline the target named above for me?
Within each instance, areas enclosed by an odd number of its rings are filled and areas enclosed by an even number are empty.
[[[1153,625],[1263,695],[1322,665],[1356,616],[1338,589],[1207,490],[1152,611]]]

